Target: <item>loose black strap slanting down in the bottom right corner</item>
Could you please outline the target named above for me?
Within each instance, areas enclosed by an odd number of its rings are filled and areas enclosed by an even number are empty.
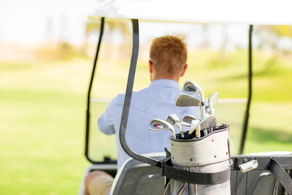
[[[292,178],[287,174],[283,167],[271,158],[271,166],[269,170],[287,190],[289,195],[292,195]]]

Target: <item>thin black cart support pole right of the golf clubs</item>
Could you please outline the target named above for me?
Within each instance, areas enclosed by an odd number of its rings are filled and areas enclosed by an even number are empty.
[[[247,127],[248,127],[248,119],[249,119],[249,109],[252,99],[252,77],[253,77],[253,70],[252,70],[252,35],[253,35],[253,25],[249,26],[249,39],[248,39],[248,100],[246,105],[246,111],[243,121],[243,129],[242,129],[242,136],[241,136],[241,142],[240,142],[240,148],[239,148],[239,155],[243,154],[244,149],[244,143],[247,133]]]

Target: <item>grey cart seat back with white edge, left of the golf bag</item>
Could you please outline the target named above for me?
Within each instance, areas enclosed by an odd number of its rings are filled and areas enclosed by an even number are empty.
[[[166,157],[165,153],[143,156],[157,160]],[[160,174],[160,168],[128,158],[114,178],[111,195],[163,195],[165,177]]]

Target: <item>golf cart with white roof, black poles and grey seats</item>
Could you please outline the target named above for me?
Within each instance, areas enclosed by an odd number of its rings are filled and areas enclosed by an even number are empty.
[[[212,7],[210,7],[211,4],[213,5]],[[198,5],[200,5],[200,7],[198,7]],[[289,191],[291,192],[292,152],[242,155],[248,129],[249,109],[252,98],[253,25],[292,24],[292,21],[286,16],[286,13],[290,11],[288,5],[281,6],[282,10],[277,12],[277,15],[273,16],[270,14],[274,12],[273,4],[265,4],[265,9],[263,9],[262,6],[261,3],[254,1],[245,1],[244,4],[237,5],[230,0],[212,2],[183,0],[179,1],[179,3],[169,0],[105,0],[98,5],[94,14],[90,16],[90,20],[100,21],[100,34],[88,90],[85,140],[85,156],[92,163],[92,166],[84,172],[84,176],[81,179],[79,195],[84,195],[84,177],[94,170],[106,171],[115,177],[111,188],[112,195],[159,195],[164,193],[169,179],[178,179],[177,176],[166,174],[166,170],[170,170],[170,168],[166,167],[164,159],[169,157],[170,154],[167,154],[167,152],[143,155],[136,154],[128,147],[125,138],[139,52],[139,22],[143,21],[249,25],[249,95],[242,125],[241,141],[237,152],[238,155],[231,156],[230,158],[231,166],[228,180],[230,180],[231,195],[287,195]],[[202,9],[207,7],[208,9]],[[105,156],[104,161],[96,161],[93,160],[89,154],[90,134],[97,131],[97,129],[91,130],[90,128],[91,119],[93,121],[97,120],[97,118],[91,118],[91,88],[101,47],[105,20],[124,20],[125,22],[131,20],[133,33],[132,57],[120,126],[120,143],[131,158],[123,164],[118,173],[117,162],[116,160],[112,160],[110,156]],[[92,132],[90,132],[90,130]],[[231,129],[231,131],[233,131],[233,129]],[[236,153],[234,150],[231,151]],[[170,151],[170,153],[171,152],[172,151]],[[252,165],[248,167],[248,170],[243,171],[242,165],[250,162]],[[255,162],[256,166],[253,166]],[[280,169],[284,169],[286,175],[280,172]],[[213,175],[208,176],[212,177]],[[190,174],[189,177],[194,178],[195,175]]]

